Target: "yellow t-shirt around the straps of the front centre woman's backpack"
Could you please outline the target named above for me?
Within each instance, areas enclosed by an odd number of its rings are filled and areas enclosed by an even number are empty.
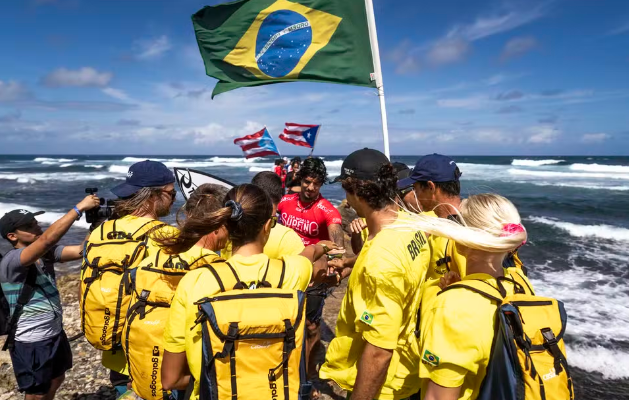
[[[310,260],[302,256],[284,256],[283,259],[286,262],[286,272],[282,287],[306,290],[312,277]],[[228,261],[243,282],[250,282],[262,279],[269,257],[265,254],[249,257],[236,254]],[[203,357],[201,325],[195,326],[199,308],[194,302],[219,292],[218,283],[209,269],[199,268],[187,273],[179,282],[164,330],[164,348],[171,353],[186,352],[188,367],[195,379],[193,399],[198,398],[199,394],[198,382]],[[194,329],[190,330],[193,326]]]

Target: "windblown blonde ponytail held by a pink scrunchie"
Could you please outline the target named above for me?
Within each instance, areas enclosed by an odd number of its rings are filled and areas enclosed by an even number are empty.
[[[445,218],[404,212],[394,229],[414,229],[454,240],[471,249],[506,253],[526,242],[520,214],[506,198],[497,194],[477,194],[463,200],[461,224]]]

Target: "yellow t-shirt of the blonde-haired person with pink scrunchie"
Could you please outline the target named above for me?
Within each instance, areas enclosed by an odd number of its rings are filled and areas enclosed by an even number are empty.
[[[504,273],[511,276],[514,271]],[[483,280],[496,287],[496,279],[487,274],[471,274],[462,280]],[[504,286],[507,294],[513,294],[512,285]],[[452,289],[436,297],[422,321],[422,359],[432,356],[433,360],[422,361],[419,369],[424,395],[432,380],[444,387],[462,386],[459,400],[476,398],[489,363],[495,314],[496,304],[471,290]]]

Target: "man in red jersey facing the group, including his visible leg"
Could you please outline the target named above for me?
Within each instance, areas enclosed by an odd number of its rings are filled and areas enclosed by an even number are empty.
[[[301,181],[301,192],[284,196],[277,210],[280,213],[280,223],[297,232],[305,246],[321,240],[331,240],[342,248],[345,240],[341,213],[320,193],[327,176],[323,160],[306,159],[297,174],[297,179]],[[313,357],[317,352],[316,348],[323,349],[321,316],[327,291],[325,285],[310,287],[306,291],[306,362],[310,377],[317,373]]]

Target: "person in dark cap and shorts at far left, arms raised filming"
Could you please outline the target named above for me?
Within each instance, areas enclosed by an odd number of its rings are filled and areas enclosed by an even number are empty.
[[[53,399],[72,368],[54,263],[80,259],[83,246],[57,243],[83,212],[98,205],[98,197],[85,197],[45,232],[35,219],[44,211],[13,210],[0,218],[0,235],[13,246],[0,260],[0,285],[10,309],[4,349],[26,400]]]

